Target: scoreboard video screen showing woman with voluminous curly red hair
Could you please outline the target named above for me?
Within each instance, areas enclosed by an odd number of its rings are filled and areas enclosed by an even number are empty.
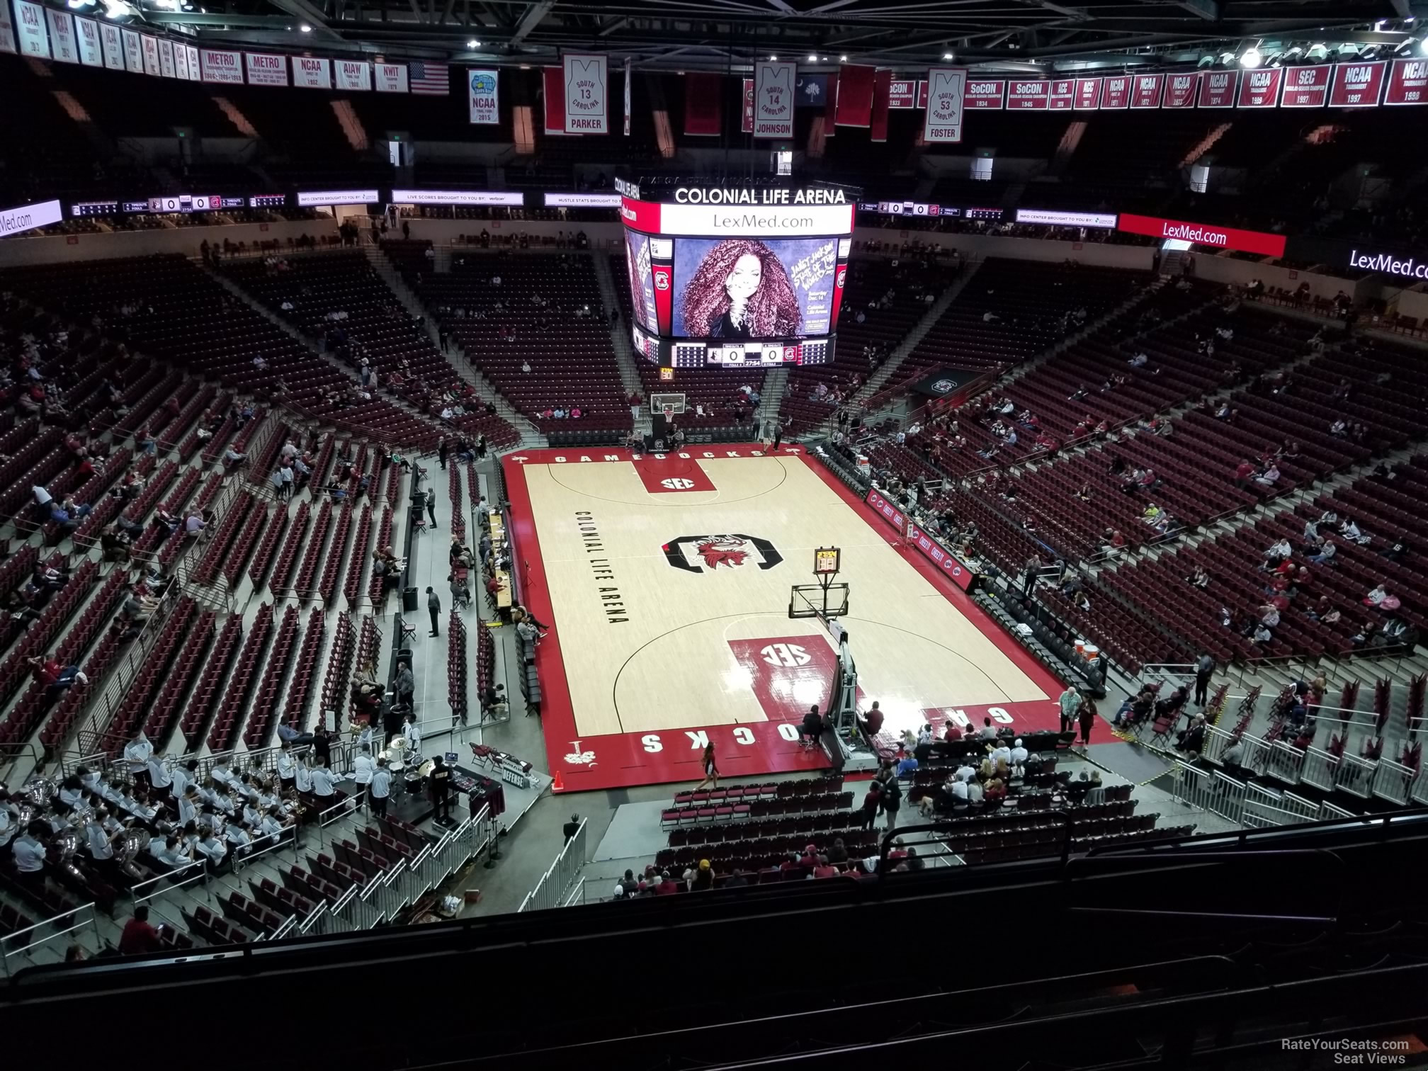
[[[837,264],[837,238],[675,238],[673,334],[828,334]]]

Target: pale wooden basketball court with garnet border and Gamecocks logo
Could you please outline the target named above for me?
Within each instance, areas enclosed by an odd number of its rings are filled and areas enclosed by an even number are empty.
[[[1057,727],[1057,680],[803,447],[504,466],[526,601],[553,625],[543,728],[568,790],[700,780],[705,743],[725,777],[827,765],[798,721],[825,710],[837,650],[820,618],[788,615],[817,548],[841,551],[860,707],[881,704],[885,734],[945,717]]]

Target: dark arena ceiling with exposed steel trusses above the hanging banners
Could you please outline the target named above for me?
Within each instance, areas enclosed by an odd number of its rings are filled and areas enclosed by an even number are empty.
[[[1428,0],[129,0],[204,40],[454,63],[544,64],[563,50],[650,70],[747,70],[794,56],[914,73],[1194,63],[1254,43],[1392,49]],[[106,6],[114,0],[104,0]],[[307,27],[307,29],[304,29]],[[1421,36],[1421,34],[1419,34]]]

